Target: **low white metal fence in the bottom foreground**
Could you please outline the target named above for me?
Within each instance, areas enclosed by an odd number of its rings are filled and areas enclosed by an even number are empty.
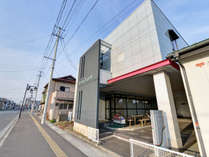
[[[170,149],[129,139],[131,157],[193,157]]]

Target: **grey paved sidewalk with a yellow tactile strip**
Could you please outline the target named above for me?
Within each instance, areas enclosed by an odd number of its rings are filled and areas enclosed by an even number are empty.
[[[85,155],[28,113],[0,148],[1,157],[84,157]]]

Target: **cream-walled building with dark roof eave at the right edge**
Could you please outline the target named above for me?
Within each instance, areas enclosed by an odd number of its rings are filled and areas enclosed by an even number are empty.
[[[168,58],[180,65],[198,145],[209,156],[209,39],[171,53]]]

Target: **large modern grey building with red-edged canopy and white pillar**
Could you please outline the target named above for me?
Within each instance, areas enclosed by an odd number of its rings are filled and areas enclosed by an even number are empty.
[[[175,62],[168,53],[188,44],[152,0],[144,2],[80,58],[74,130],[99,140],[100,124],[161,110],[168,147],[182,148],[178,117],[191,118]]]

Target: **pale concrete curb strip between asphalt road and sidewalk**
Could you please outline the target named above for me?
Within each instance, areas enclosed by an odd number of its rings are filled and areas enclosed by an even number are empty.
[[[2,147],[2,145],[4,144],[4,141],[6,140],[6,138],[9,136],[10,132],[12,131],[12,129],[14,128],[14,126],[16,125],[17,121],[18,121],[18,116],[17,115],[1,132],[0,132],[0,147]]]

